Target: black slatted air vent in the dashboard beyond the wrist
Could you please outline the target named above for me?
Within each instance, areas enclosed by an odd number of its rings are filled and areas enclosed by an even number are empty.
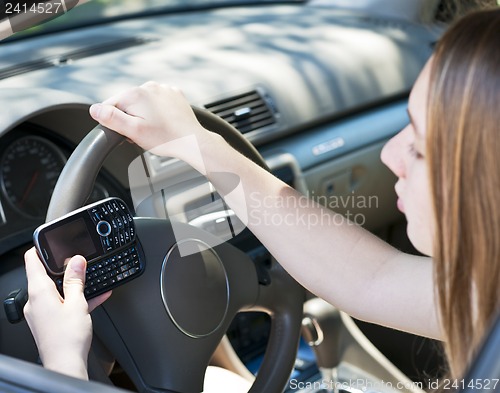
[[[252,90],[205,105],[242,134],[276,123],[277,111],[271,97]]]

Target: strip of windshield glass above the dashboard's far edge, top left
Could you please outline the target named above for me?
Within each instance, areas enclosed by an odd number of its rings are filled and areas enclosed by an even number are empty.
[[[66,14],[62,14],[62,0],[41,0],[41,1],[24,1],[24,2],[1,2],[0,24],[9,22],[14,31],[11,39],[18,39],[26,36],[53,32],[58,30],[72,29],[80,26],[88,26],[100,24],[116,19],[125,19],[141,15],[151,15],[169,12],[182,12],[196,9],[206,9],[223,6],[237,6],[243,4],[262,4],[262,3],[278,3],[278,2],[302,2],[304,0],[80,0],[76,9],[71,9],[68,4],[71,0],[65,0],[65,5],[70,9]],[[35,3],[39,10],[45,12],[44,19],[48,20],[45,23],[38,20],[33,20],[29,26],[26,26],[26,13],[30,7],[35,7]],[[49,9],[49,3],[50,5]],[[76,3],[76,0],[73,0]],[[27,7],[27,8],[26,8]],[[56,9],[58,10],[56,12]],[[36,11],[36,8],[33,10]],[[32,10],[32,11],[33,11]],[[50,15],[49,15],[50,14]],[[60,15],[60,16],[57,16]],[[23,24],[21,26],[21,23]],[[32,27],[30,27],[32,26]],[[29,27],[29,28],[28,28]]]

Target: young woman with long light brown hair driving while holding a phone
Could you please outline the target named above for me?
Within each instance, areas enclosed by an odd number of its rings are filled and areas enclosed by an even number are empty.
[[[148,82],[93,105],[90,113],[144,149],[186,161],[222,195],[225,184],[213,174],[237,174],[247,198],[226,202],[249,217],[249,229],[304,287],[356,318],[444,341],[450,375],[459,377],[500,300],[498,37],[498,9],[470,14],[451,27],[411,92],[410,124],[382,151],[398,177],[398,208],[408,220],[408,236],[429,257],[404,254],[339,217],[307,228],[289,220],[281,220],[280,230],[259,225],[273,222],[266,220],[270,215],[296,216],[297,209],[301,215],[335,213],[313,201],[307,207],[294,203],[303,196],[203,129],[175,88]],[[185,136],[196,138],[201,159],[189,145],[170,148],[168,142]],[[265,209],[250,203],[264,198]],[[39,327],[53,318],[44,319],[46,313],[30,303],[53,294],[37,288],[35,277],[44,274],[37,264],[35,254],[27,254],[27,320],[43,359],[49,338]],[[341,279],[331,285],[332,277]],[[68,313],[76,318],[82,311]],[[58,352],[84,356],[87,348]]]

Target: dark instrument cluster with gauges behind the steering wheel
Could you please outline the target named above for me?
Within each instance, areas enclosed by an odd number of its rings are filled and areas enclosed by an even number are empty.
[[[25,123],[0,138],[0,255],[31,241],[74,146],[40,126]],[[118,191],[119,192],[119,191]],[[99,176],[87,203],[116,194]]]

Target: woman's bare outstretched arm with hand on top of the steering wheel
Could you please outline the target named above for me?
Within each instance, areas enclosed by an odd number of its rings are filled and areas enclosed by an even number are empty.
[[[356,318],[441,337],[429,258],[401,253],[329,209],[304,203],[304,196],[203,129],[177,89],[148,82],[90,113],[144,149],[182,159],[206,175],[311,292]],[[227,173],[239,177],[245,198],[228,194],[234,184]]]

